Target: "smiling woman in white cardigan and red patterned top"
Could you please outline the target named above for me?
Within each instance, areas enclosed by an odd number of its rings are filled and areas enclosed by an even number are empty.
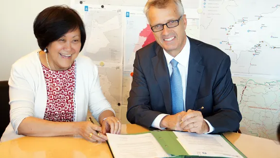
[[[106,132],[120,134],[121,122],[102,93],[97,66],[78,56],[86,41],[79,15],[69,7],[46,8],[34,21],[34,34],[41,50],[12,66],[11,122],[1,142],[76,134],[105,141]],[[101,127],[86,121],[88,107]]]

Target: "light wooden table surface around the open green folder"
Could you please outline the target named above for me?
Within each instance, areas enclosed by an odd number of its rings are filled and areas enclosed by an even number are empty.
[[[148,131],[124,124],[122,134]],[[248,158],[280,158],[280,145],[273,140],[238,133],[225,137]],[[88,142],[80,136],[23,137],[0,143],[0,158],[112,158],[107,144]]]

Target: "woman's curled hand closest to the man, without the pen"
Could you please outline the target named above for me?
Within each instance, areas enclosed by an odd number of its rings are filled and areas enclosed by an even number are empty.
[[[121,134],[122,123],[116,117],[107,117],[102,121],[102,133]]]

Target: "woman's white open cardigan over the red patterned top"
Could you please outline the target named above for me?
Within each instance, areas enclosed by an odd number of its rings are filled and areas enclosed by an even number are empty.
[[[10,124],[3,133],[1,142],[23,137],[18,135],[18,126],[23,119],[44,118],[47,88],[37,52],[38,50],[18,59],[12,65],[9,79]],[[88,108],[98,121],[103,111],[114,110],[102,93],[97,66],[82,55],[75,61],[74,121],[86,121]]]

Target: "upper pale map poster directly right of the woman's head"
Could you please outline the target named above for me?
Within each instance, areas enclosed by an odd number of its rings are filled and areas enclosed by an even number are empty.
[[[123,12],[118,7],[88,6],[84,55],[94,61],[123,64]]]

